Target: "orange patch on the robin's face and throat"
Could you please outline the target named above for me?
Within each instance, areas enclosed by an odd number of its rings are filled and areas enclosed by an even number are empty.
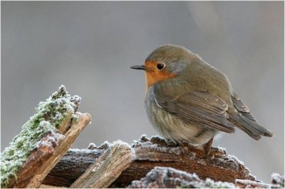
[[[157,69],[157,62],[146,61],[145,62],[145,76],[147,79],[147,89],[151,85],[159,82],[160,80],[166,80],[171,77],[175,77],[176,74],[167,72],[165,68],[162,70]]]

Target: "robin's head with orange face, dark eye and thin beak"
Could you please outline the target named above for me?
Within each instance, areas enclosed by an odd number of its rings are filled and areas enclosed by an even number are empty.
[[[131,68],[145,70],[148,88],[161,80],[182,75],[195,58],[199,57],[187,48],[177,45],[163,45],[148,55],[144,65],[135,65]]]

